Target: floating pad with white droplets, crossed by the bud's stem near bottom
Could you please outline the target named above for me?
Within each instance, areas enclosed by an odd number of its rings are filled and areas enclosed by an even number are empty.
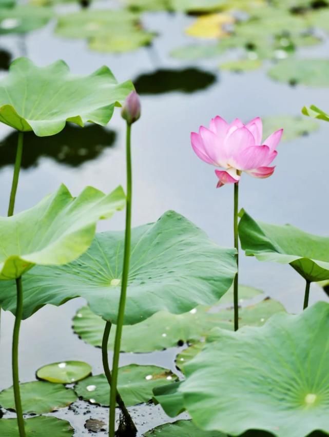
[[[170,385],[177,379],[174,373],[163,367],[130,364],[119,368],[118,391],[129,407],[150,401],[154,387]],[[104,374],[86,378],[74,389],[80,398],[92,404],[109,405],[110,388]]]

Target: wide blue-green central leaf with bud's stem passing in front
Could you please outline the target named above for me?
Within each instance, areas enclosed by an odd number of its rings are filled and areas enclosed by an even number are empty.
[[[50,232],[50,231],[49,231]],[[24,275],[24,318],[46,303],[61,305],[82,296],[105,320],[117,322],[124,232],[97,234],[90,249],[63,266],[37,266]],[[158,311],[186,313],[211,305],[228,290],[236,274],[235,249],[221,248],[173,211],[156,223],[133,228],[125,324]],[[16,307],[14,284],[0,284],[4,309]]]

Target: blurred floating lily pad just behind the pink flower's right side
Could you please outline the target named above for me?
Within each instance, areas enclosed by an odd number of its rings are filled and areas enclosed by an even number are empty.
[[[275,117],[263,118],[263,131],[266,138],[270,133],[283,128],[284,141],[308,135],[320,127],[315,120],[308,120],[302,116],[279,115]]]

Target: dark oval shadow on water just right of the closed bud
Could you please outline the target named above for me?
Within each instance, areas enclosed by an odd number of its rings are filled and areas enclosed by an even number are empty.
[[[133,81],[139,94],[163,94],[171,91],[193,93],[215,84],[217,76],[198,68],[159,69],[142,74]]]

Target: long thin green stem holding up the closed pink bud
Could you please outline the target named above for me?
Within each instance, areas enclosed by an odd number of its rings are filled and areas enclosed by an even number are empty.
[[[126,162],[127,162],[127,205],[126,205],[126,230],[125,230],[125,246],[123,259],[123,272],[121,294],[119,302],[119,313],[117,320],[117,330],[115,331],[114,350],[113,350],[113,364],[112,364],[112,384],[110,393],[110,417],[109,417],[109,437],[115,436],[115,398],[117,396],[118,385],[118,370],[122,326],[125,314],[127,283],[129,273],[130,260],[130,239],[131,239],[131,152],[130,152],[130,137],[131,124],[127,122],[127,138],[126,138]]]

